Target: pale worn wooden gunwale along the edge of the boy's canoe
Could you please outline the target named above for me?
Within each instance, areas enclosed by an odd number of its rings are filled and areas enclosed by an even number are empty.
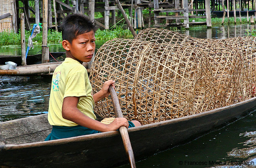
[[[139,131],[139,130],[145,130],[145,129],[149,129],[149,128],[154,128],[154,127],[159,127],[159,126],[163,126],[163,125],[170,125],[170,124],[178,123],[178,122],[181,122],[181,121],[187,121],[187,120],[190,120],[190,119],[203,117],[203,116],[206,116],[206,115],[212,115],[212,114],[218,113],[220,111],[224,111],[224,110],[227,110],[227,109],[230,109],[230,108],[235,108],[236,106],[241,106],[242,104],[246,104],[246,103],[253,102],[253,101],[256,101],[256,97],[250,98],[250,99],[245,100],[243,102],[238,102],[238,103],[235,103],[235,104],[232,104],[232,105],[229,105],[229,106],[212,109],[212,110],[205,111],[205,112],[198,113],[198,114],[193,114],[193,115],[188,115],[188,116],[184,116],[184,117],[180,117],[180,118],[176,118],[176,119],[171,119],[171,120],[167,120],[167,121],[161,121],[161,122],[158,122],[158,123],[151,123],[151,124],[147,124],[147,125],[128,128],[128,133],[129,132],[136,132],[136,131]],[[248,111],[248,110],[246,110],[246,111]],[[43,114],[43,115],[47,115],[47,114]],[[32,116],[32,117],[36,117],[36,116]],[[26,117],[26,118],[29,118],[29,117]],[[22,119],[25,119],[25,118],[22,118]],[[16,120],[22,120],[22,119],[16,119]],[[13,121],[14,120],[5,121],[5,122],[13,122]],[[59,140],[44,141],[44,142],[32,142],[32,143],[22,143],[22,144],[6,144],[6,145],[0,145],[0,151],[1,150],[10,150],[10,149],[22,149],[22,148],[26,148],[26,147],[40,147],[40,146],[46,146],[46,145],[59,145],[59,144],[65,144],[65,143],[71,143],[71,142],[81,142],[81,141],[86,141],[86,140],[92,140],[92,139],[97,139],[97,138],[99,139],[99,138],[105,138],[105,137],[111,137],[111,136],[117,136],[117,135],[120,135],[119,131],[109,131],[109,132],[102,132],[102,133],[97,133],[97,134],[83,135],[83,136],[64,138],[64,139],[59,139]]]

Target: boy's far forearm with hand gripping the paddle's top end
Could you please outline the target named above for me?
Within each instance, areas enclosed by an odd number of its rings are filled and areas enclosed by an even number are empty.
[[[105,81],[101,90],[92,96],[94,98],[94,102],[97,103],[99,100],[107,97],[110,93],[109,86],[113,85],[113,87],[115,88],[114,83],[115,83],[115,81],[113,81],[113,80]]]

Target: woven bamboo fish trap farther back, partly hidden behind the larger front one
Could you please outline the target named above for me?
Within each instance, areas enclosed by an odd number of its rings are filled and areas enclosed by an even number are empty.
[[[256,37],[237,37],[221,40],[200,39],[166,29],[147,28],[141,30],[134,39],[155,43],[181,43],[203,49],[204,52],[209,54],[211,64],[213,66],[218,65],[218,68],[220,68],[219,70],[213,71],[216,81],[219,79],[223,80],[222,76],[226,76],[227,79],[229,78],[232,71],[230,64],[235,64],[234,62],[238,59],[237,56],[239,56],[241,57],[239,60],[242,60],[241,64],[243,64],[243,68],[241,71],[242,77],[234,78],[239,79],[240,87],[237,91],[237,98],[235,99],[238,101],[247,100],[256,94]],[[220,85],[222,84],[220,83]],[[224,85],[222,86],[225,87]],[[230,89],[233,87],[231,85]]]

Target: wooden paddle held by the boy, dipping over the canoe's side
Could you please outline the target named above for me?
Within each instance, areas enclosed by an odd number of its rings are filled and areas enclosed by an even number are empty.
[[[114,111],[115,111],[116,117],[123,117],[122,110],[121,110],[120,104],[119,104],[119,100],[117,98],[117,93],[112,85],[109,87],[109,91],[111,94],[111,100],[112,100],[112,103],[114,106]],[[127,128],[125,126],[121,126],[119,128],[119,131],[122,136],[122,140],[124,143],[124,149],[126,151],[126,155],[127,155],[128,159],[129,159],[131,168],[136,168],[134,154],[132,151],[132,145],[131,145],[130,138],[129,138],[129,135],[127,132]]]

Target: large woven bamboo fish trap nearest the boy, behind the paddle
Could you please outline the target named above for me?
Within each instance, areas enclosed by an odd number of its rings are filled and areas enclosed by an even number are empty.
[[[214,55],[214,51],[205,53],[200,48],[178,43],[110,40],[97,51],[92,64],[93,91],[98,92],[108,79],[115,80],[124,117],[141,124],[233,104],[237,96],[235,89],[239,89],[235,84],[242,68],[239,61],[243,60],[236,54],[237,60],[229,61],[227,66],[232,68],[228,80],[222,75],[217,80],[214,73],[220,73],[221,68],[210,63],[213,59],[210,54]],[[99,101],[94,111],[101,117],[115,116],[110,97]]]

